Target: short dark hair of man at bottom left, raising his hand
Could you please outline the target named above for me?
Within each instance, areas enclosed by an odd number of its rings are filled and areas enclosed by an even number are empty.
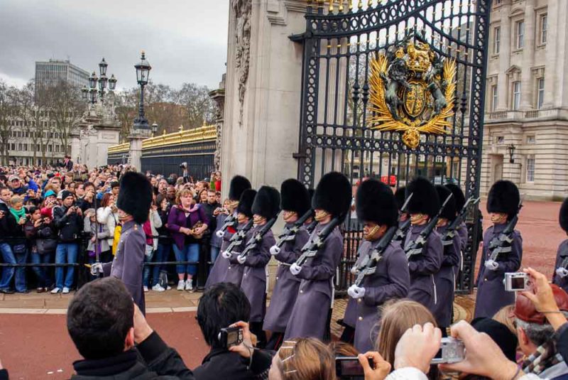
[[[133,327],[132,296],[118,278],[101,278],[83,286],[67,309],[67,331],[85,359],[113,357],[124,351]]]

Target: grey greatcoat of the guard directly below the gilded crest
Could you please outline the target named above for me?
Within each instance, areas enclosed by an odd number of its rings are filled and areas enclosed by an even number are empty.
[[[410,226],[405,246],[414,241],[425,227],[426,224]],[[408,259],[408,271],[410,271],[408,298],[421,303],[431,312],[438,301],[434,275],[442,266],[442,251],[442,239],[437,232],[432,231],[422,253],[410,256]]]

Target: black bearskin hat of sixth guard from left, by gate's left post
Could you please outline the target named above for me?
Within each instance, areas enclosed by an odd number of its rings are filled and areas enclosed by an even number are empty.
[[[345,175],[327,173],[315,188],[312,209],[322,209],[334,217],[344,219],[351,207],[351,184]]]

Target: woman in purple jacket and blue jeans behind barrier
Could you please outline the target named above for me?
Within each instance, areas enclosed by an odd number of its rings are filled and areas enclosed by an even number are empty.
[[[193,192],[180,190],[176,205],[168,215],[168,229],[172,232],[173,251],[177,261],[194,261],[200,258],[200,244],[196,237],[207,230],[207,216],[201,205],[192,205]],[[201,222],[201,226],[198,224]],[[197,273],[197,265],[178,265],[178,291],[193,291],[192,277]],[[187,281],[184,281],[187,273]]]

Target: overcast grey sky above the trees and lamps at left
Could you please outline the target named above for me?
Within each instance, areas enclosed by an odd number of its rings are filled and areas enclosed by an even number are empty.
[[[229,0],[0,0],[0,78],[21,86],[36,60],[70,59],[92,72],[102,57],[117,87],[136,85],[146,50],[151,80],[217,88],[225,72]]]

